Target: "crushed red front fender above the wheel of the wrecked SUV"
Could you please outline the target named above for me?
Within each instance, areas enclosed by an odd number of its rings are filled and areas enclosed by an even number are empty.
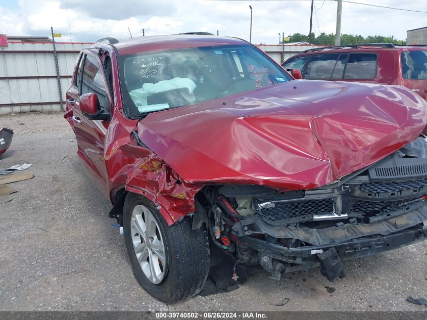
[[[117,114],[117,113],[116,113]],[[118,119],[121,118],[121,119]],[[110,177],[110,198],[118,189],[140,194],[151,200],[171,225],[195,211],[195,195],[204,187],[183,181],[157,154],[139,141],[137,121],[120,113],[110,123],[106,136],[105,165]]]

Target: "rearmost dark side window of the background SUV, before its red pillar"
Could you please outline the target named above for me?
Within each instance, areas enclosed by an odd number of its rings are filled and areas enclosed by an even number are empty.
[[[376,69],[376,54],[351,53],[344,72],[344,79],[375,79]]]

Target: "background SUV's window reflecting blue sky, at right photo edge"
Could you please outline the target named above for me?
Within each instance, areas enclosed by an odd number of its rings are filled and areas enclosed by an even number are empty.
[[[402,52],[402,76],[404,79],[427,79],[427,51]]]

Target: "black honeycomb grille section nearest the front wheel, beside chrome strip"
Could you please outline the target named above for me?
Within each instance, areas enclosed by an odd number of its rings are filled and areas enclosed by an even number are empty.
[[[308,200],[300,202],[276,203],[273,208],[262,209],[260,215],[269,221],[301,218],[313,213],[328,213],[334,211],[332,199]]]

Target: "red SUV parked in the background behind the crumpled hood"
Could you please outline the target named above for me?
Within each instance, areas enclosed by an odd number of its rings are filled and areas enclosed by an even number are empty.
[[[303,51],[282,63],[304,79],[403,85],[426,98],[427,45],[349,44]]]

